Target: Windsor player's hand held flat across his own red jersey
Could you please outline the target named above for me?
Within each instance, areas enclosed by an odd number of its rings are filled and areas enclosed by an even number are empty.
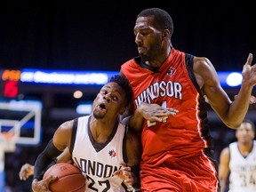
[[[179,111],[174,108],[163,108],[158,104],[141,103],[138,110],[148,121],[165,123],[168,116],[175,116]]]

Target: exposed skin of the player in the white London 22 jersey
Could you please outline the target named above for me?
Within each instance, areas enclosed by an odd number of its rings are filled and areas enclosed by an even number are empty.
[[[116,83],[111,82],[104,85],[98,93],[92,105],[92,120],[90,128],[92,137],[96,142],[105,143],[113,132],[118,116],[125,111],[125,93],[124,90]],[[65,122],[58,127],[53,135],[53,144],[60,151],[70,147],[71,132],[74,120]],[[115,174],[124,180],[124,183],[132,185],[137,181],[131,172],[131,166],[140,162],[140,140],[137,134],[132,131],[127,132],[126,150],[128,162],[121,164],[121,170]],[[70,156],[70,155],[69,155]],[[71,156],[70,156],[71,157]],[[32,189],[36,191],[50,191],[49,184],[57,180],[56,177],[50,177],[46,180],[33,180]]]

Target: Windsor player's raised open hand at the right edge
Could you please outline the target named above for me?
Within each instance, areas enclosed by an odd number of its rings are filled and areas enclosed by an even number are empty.
[[[250,86],[256,84],[256,64],[252,65],[252,59],[252,53],[250,53],[242,71],[243,82]]]

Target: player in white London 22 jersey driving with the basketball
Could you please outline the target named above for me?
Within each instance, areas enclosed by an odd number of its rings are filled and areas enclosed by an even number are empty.
[[[136,183],[140,179],[134,172],[140,163],[140,140],[118,120],[131,100],[128,81],[124,76],[115,76],[101,88],[90,116],[61,124],[36,159],[33,191],[47,191],[49,183],[57,180],[53,176],[42,180],[42,171],[65,148],[84,174],[86,191],[125,191]],[[88,172],[89,166],[95,172]]]

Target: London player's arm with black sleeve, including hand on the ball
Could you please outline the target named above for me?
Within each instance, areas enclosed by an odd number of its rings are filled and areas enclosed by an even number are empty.
[[[72,120],[61,124],[56,132],[54,132],[53,138],[50,140],[47,147],[44,148],[44,151],[39,156],[37,156],[34,168],[34,180],[32,182],[32,189],[34,192],[49,190],[49,184],[58,179],[52,176],[46,180],[42,180],[44,172],[47,167],[51,165],[52,160],[57,156],[60,156],[65,148],[69,148],[73,123],[74,121]]]

